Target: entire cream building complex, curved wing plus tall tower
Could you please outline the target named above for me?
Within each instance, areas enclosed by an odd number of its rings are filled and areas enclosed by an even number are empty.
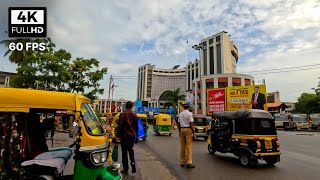
[[[150,64],[139,67],[138,99],[161,107],[161,102],[154,99],[180,87],[192,99],[194,113],[206,114],[207,89],[254,84],[252,76],[236,73],[238,48],[227,32],[205,38],[193,48],[199,50],[199,60],[189,62],[185,69],[159,69]]]

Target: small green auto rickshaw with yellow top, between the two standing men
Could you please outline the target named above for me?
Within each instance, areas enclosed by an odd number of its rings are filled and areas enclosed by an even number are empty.
[[[156,135],[172,135],[172,122],[169,114],[158,114],[153,120],[153,131]]]

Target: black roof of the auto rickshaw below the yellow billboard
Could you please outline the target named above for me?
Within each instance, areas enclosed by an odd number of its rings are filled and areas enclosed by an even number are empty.
[[[239,111],[222,111],[214,112],[212,118],[223,119],[243,119],[243,118],[255,118],[255,119],[274,119],[273,116],[264,110],[249,109]]]

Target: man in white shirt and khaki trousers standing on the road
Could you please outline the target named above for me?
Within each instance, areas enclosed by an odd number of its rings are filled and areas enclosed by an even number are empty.
[[[178,127],[180,136],[180,164],[181,167],[195,168],[192,164],[192,141],[194,134],[192,113],[188,110],[189,104],[183,104],[183,111],[179,114]]]

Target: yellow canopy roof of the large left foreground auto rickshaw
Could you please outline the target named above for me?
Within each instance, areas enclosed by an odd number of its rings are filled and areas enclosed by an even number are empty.
[[[66,92],[22,88],[0,88],[1,112],[26,112],[30,109],[81,111],[81,104],[90,103],[87,97]]]

